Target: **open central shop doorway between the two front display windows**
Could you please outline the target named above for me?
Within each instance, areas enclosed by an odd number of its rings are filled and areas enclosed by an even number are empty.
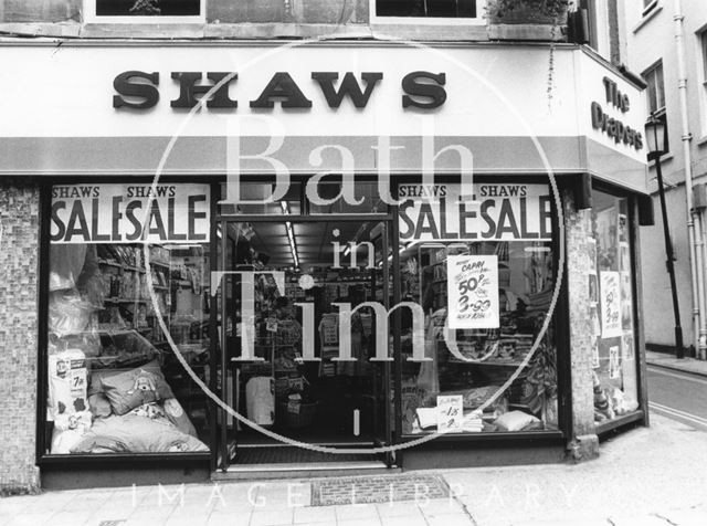
[[[392,330],[377,323],[372,308],[356,308],[366,302],[388,308],[393,301],[390,228],[389,220],[294,214],[220,222],[214,374],[223,399],[250,422],[306,444],[391,443],[392,361],[371,358],[377,332]],[[354,311],[350,330],[342,332],[339,316],[347,308]],[[392,358],[392,337],[388,341]],[[217,441],[222,471],[392,464],[382,455],[296,448],[225,411],[218,418]]]

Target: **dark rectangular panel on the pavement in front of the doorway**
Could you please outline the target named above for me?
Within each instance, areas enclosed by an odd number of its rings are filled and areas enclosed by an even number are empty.
[[[444,498],[450,487],[440,475],[378,475],[323,478],[312,483],[312,505],[373,504]]]

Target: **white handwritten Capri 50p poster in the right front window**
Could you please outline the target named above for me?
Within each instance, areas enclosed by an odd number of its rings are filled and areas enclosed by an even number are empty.
[[[498,328],[498,256],[450,255],[446,272],[450,328]]]

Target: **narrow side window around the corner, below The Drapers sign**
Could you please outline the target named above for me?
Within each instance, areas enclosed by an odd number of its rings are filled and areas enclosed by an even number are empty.
[[[594,420],[610,422],[639,408],[633,317],[633,244],[629,200],[594,190],[589,240]]]

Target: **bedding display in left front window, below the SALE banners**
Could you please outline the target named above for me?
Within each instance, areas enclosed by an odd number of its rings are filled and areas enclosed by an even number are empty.
[[[208,249],[51,245],[46,453],[209,451]]]

